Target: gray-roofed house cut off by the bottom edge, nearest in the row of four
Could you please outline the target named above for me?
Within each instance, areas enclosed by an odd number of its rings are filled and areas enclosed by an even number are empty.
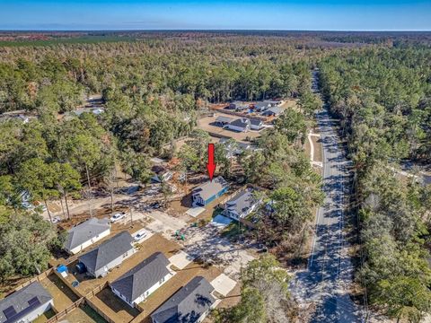
[[[214,287],[202,276],[196,276],[175,292],[172,297],[151,314],[153,323],[202,322],[214,306]]]

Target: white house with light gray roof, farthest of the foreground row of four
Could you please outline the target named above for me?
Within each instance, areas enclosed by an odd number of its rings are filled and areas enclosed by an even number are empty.
[[[108,218],[91,218],[67,231],[64,249],[69,254],[75,255],[109,235],[110,220]]]

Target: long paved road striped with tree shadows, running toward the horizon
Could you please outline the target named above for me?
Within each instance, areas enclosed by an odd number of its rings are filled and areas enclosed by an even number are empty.
[[[314,305],[312,322],[362,322],[362,308],[348,293],[354,279],[345,228],[350,220],[345,211],[351,191],[351,162],[339,144],[334,129],[337,121],[330,118],[327,109],[321,110],[317,119],[323,149],[325,200],[317,214],[307,269],[295,275],[291,290],[300,304]]]

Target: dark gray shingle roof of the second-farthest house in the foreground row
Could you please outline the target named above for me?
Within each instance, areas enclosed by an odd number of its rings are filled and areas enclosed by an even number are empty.
[[[79,258],[87,268],[93,272],[108,265],[112,260],[119,258],[121,255],[133,249],[132,236],[128,231],[119,232],[119,234],[106,240],[100,246],[91,249]]]

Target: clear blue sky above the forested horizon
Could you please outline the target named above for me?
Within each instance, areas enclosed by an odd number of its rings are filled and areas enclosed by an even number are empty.
[[[0,29],[431,31],[431,0],[0,0]]]

